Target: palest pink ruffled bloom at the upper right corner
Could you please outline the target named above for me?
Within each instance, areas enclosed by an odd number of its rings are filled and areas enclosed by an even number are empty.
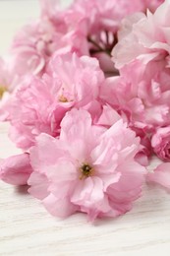
[[[154,14],[136,14],[122,23],[118,34],[119,42],[113,49],[113,60],[120,69],[135,59],[145,65],[149,61],[162,61],[169,65],[169,31],[168,19],[170,2],[165,1]]]

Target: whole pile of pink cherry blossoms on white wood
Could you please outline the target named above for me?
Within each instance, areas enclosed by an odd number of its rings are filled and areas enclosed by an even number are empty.
[[[170,189],[170,1],[40,6],[0,59],[0,120],[23,151],[0,179],[53,216],[123,215],[144,183]]]

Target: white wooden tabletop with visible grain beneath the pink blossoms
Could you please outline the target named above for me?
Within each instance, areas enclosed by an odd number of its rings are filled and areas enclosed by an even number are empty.
[[[0,54],[12,35],[38,14],[36,0],[0,1]],[[0,158],[19,153],[0,124]],[[133,211],[88,224],[85,215],[65,221],[51,217],[39,202],[0,181],[0,256],[170,255],[170,194],[154,186],[143,190]]]

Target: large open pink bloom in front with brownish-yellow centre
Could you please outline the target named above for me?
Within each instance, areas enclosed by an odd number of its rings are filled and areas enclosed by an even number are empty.
[[[145,169],[134,160],[139,138],[122,120],[110,129],[91,123],[87,111],[72,109],[58,139],[41,134],[30,150],[28,191],[54,216],[116,217],[141,195]]]

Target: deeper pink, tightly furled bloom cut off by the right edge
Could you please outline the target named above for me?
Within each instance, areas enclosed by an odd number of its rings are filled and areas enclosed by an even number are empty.
[[[159,159],[170,161],[170,126],[156,130],[151,138],[151,146]]]

